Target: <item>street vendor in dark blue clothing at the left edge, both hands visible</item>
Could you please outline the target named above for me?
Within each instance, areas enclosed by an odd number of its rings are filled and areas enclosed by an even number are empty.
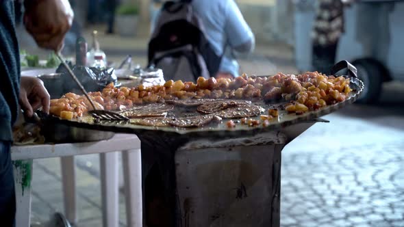
[[[38,46],[60,51],[73,21],[68,0],[27,0],[24,24]],[[0,226],[14,226],[16,201],[10,146],[18,103],[30,117],[35,109],[49,111],[49,94],[34,77],[20,78],[14,1],[0,1]]]

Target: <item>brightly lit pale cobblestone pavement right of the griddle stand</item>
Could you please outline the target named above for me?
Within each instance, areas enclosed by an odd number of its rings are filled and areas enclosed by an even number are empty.
[[[404,108],[383,108],[346,107],[286,146],[281,226],[404,226]]]

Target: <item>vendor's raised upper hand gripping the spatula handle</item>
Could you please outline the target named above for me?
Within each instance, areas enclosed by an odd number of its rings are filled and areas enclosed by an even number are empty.
[[[68,0],[26,0],[24,24],[38,46],[60,51],[73,23]]]

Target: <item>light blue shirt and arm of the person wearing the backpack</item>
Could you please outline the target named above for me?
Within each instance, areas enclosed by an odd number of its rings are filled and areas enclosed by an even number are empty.
[[[207,41],[212,45],[216,55],[223,55],[216,78],[238,77],[240,66],[236,57],[254,50],[255,36],[244,20],[236,2],[234,0],[194,0],[190,2],[192,9],[205,27]],[[164,0],[154,0],[153,3],[162,5]],[[152,34],[157,20],[158,14],[153,14]]]

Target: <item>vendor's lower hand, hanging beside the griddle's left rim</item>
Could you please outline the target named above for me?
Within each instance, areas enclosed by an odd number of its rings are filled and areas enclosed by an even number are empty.
[[[49,114],[51,97],[45,89],[43,82],[35,77],[21,77],[20,97],[18,98],[25,116],[31,117],[39,107]]]

